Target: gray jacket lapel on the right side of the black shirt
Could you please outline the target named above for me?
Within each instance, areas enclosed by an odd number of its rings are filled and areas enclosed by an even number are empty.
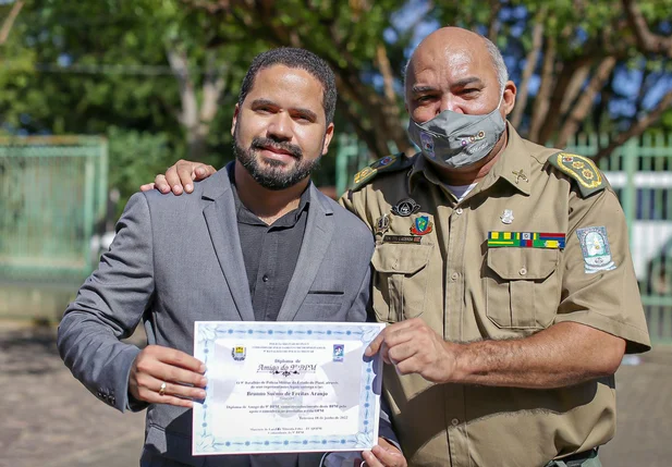
[[[292,321],[303,304],[317,271],[325,258],[333,234],[333,211],[322,199],[315,185],[310,184],[310,207],[303,244],[290,286],[282,302],[278,321]]]

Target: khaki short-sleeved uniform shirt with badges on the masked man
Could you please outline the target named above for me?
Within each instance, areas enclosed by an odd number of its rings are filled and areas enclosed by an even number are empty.
[[[399,243],[383,242],[383,235],[376,234],[377,319],[393,323],[419,317],[453,342],[525,337],[574,321],[623,337],[626,352],[648,349],[625,218],[615,194],[599,172],[583,172],[598,189],[582,193],[581,183],[589,186],[586,180],[579,183],[547,163],[557,149],[521,138],[511,125],[508,131],[504,152],[461,202],[421,156],[407,169],[379,173],[343,196],[343,206],[372,231],[388,214],[384,235],[411,235],[420,216],[432,224],[425,225],[431,231],[419,243],[399,237]],[[404,198],[416,201],[419,211],[392,213]],[[613,269],[587,273],[577,230],[595,226],[606,229]],[[566,245],[488,247],[491,231],[563,233]],[[614,433],[613,377],[526,390],[433,384],[386,368],[383,381],[412,466],[542,466],[603,444]]]

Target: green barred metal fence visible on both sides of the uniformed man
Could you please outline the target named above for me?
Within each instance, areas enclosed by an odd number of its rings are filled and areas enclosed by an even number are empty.
[[[590,157],[608,143],[608,135],[578,135],[567,151]],[[339,140],[339,194],[370,162],[356,139]],[[630,139],[599,167],[625,212],[651,340],[672,344],[672,134],[648,133]]]

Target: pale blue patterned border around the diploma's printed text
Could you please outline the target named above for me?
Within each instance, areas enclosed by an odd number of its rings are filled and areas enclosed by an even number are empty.
[[[196,321],[194,329],[194,356],[208,366],[218,339],[252,341],[305,340],[305,341],[356,341],[366,347],[384,328],[382,323],[343,323],[305,321]],[[210,358],[211,359],[211,358]],[[207,376],[207,373],[206,373]],[[333,433],[329,435],[285,435],[218,438],[211,432],[212,411],[206,400],[194,403],[193,443],[194,455],[212,454],[261,454],[286,452],[333,452],[362,451],[377,444],[380,411],[382,360],[376,355],[363,361],[359,389],[359,420],[356,433]]]

